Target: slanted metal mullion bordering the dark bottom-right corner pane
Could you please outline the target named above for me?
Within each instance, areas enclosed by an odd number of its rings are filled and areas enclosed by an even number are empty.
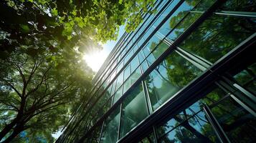
[[[212,128],[214,129],[214,132],[217,134],[217,137],[219,138],[219,141],[222,143],[230,143],[229,138],[227,137],[227,134],[225,134],[224,130],[222,127],[219,125],[219,122],[217,119],[214,117],[214,114],[212,114],[211,109],[205,104],[203,107],[203,111],[209,120],[210,124],[212,124]]]

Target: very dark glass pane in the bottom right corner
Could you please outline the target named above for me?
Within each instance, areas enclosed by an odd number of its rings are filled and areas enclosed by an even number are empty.
[[[256,118],[234,99],[224,99],[211,110],[231,142],[256,140]]]

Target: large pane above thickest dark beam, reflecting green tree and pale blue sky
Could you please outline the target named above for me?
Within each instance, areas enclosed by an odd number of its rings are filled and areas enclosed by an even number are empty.
[[[174,52],[168,56],[146,78],[153,110],[201,73],[202,71],[179,54]]]

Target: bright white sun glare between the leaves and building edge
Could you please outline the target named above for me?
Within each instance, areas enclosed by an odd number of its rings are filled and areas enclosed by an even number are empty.
[[[98,71],[100,66],[103,64],[105,59],[107,58],[108,53],[103,49],[100,51],[93,51],[89,54],[85,54],[83,59],[86,61],[88,66],[93,69],[93,71]]]

